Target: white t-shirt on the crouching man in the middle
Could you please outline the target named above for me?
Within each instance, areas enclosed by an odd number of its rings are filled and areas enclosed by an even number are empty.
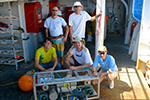
[[[86,52],[84,49],[82,49],[82,51],[78,52],[76,48],[73,48],[71,51],[73,51],[74,58],[79,64],[82,64],[82,65],[87,64],[87,63],[90,63],[90,65],[93,64],[93,61],[92,61],[92,58],[91,58],[91,55],[90,55],[88,49]]]

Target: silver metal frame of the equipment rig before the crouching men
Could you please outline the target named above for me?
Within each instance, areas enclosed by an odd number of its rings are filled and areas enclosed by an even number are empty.
[[[37,72],[36,75],[33,75],[33,92],[34,92],[34,99],[37,100],[37,89],[36,87],[38,86],[45,86],[45,85],[54,85],[54,84],[63,84],[62,79],[68,83],[68,82],[81,82],[81,81],[92,81],[92,80],[98,80],[98,84],[97,84],[97,95],[95,97],[90,97],[87,98],[87,100],[91,100],[91,99],[97,99],[100,97],[100,82],[99,82],[99,77],[94,77],[91,73],[91,71],[89,69],[83,69],[83,70],[75,70],[73,71],[75,76],[73,77],[62,77],[61,78],[55,78],[54,73],[67,73],[71,71],[70,69],[66,69],[66,70],[57,70],[57,71],[46,71],[46,72]],[[85,72],[87,71],[89,74],[88,75],[79,75],[78,72]],[[41,83],[40,80],[37,80],[38,78],[40,78],[40,75],[45,75],[45,74],[49,74],[49,76],[51,76],[51,79],[47,79],[47,82]],[[38,81],[36,83],[36,80]]]

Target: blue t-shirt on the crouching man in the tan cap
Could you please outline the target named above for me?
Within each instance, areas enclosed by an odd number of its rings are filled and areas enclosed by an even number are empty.
[[[118,70],[115,59],[111,55],[106,54],[106,59],[104,61],[100,55],[98,55],[92,66],[97,67],[98,63],[104,71],[110,71],[112,73],[113,71]]]

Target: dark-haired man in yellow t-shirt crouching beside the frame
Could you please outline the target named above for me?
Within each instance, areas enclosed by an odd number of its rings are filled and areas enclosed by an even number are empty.
[[[39,48],[35,54],[35,67],[37,71],[53,71],[60,69],[53,40],[50,37],[44,39],[44,46]]]

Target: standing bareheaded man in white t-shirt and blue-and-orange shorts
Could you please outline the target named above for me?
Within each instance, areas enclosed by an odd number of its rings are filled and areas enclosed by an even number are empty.
[[[47,18],[44,27],[46,32],[46,37],[48,37],[48,29],[50,32],[50,37],[54,41],[54,47],[56,48],[57,54],[60,57],[62,68],[63,66],[63,53],[64,53],[64,42],[67,41],[67,36],[69,32],[69,28],[65,20],[59,16],[57,16],[59,9],[57,6],[52,8],[52,16]],[[66,28],[65,36],[63,36],[63,27]]]

